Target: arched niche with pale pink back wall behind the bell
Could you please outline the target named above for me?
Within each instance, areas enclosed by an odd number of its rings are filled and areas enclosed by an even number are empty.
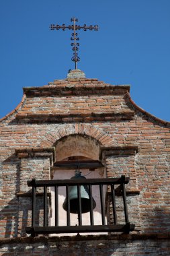
[[[55,143],[56,148],[56,162],[71,162],[73,160],[97,160],[100,162],[100,143],[93,137],[87,135],[69,135],[62,137]],[[81,169],[81,168],[80,168]],[[82,175],[87,179],[101,179],[105,177],[104,168],[83,168],[81,169]],[[53,168],[53,179],[71,179],[75,175],[75,169],[73,168]],[[103,186],[103,193],[106,193],[106,187]],[[94,224],[101,224],[101,208],[99,201],[99,186],[92,188],[93,199],[95,200],[96,207],[93,211]],[[58,188],[58,216],[59,226],[65,226],[67,223],[67,212],[62,207],[65,201],[66,191],[65,187]],[[52,201],[52,212],[50,218],[50,224],[54,226],[54,189],[51,189],[51,201]],[[71,224],[77,225],[77,214],[70,214]],[[89,212],[82,214],[83,225],[90,225]],[[87,233],[88,234],[88,233]],[[93,233],[95,234],[95,233]],[[55,234],[57,236],[57,234]],[[65,235],[65,234],[60,234]],[[68,234],[67,234],[68,235]],[[74,234],[69,234],[74,235]]]

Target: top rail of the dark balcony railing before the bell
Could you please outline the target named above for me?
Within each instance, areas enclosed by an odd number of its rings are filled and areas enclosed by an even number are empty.
[[[108,179],[65,179],[65,180],[36,180],[32,179],[32,181],[28,181],[28,187],[53,187],[55,185],[58,186],[66,186],[66,185],[110,185],[110,184],[127,184],[130,178],[122,175],[120,178],[108,178]]]

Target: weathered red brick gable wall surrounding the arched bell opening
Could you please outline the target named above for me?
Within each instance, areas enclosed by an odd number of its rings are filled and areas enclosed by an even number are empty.
[[[24,89],[21,104],[0,122],[1,237],[18,236],[26,222],[30,223],[28,218],[22,224],[26,213],[21,212],[30,197],[19,193],[28,191],[26,181],[32,177],[50,179],[55,156],[46,149],[55,148],[57,141],[69,135],[95,139],[108,177],[126,174],[130,177],[128,189],[140,191],[128,195],[130,222],[134,220],[136,232],[170,231],[170,123],[136,106],[129,89],[83,78]],[[26,209],[29,212],[29,206]],[[161,242],[157,243],[153,242],[155,250]],[[141,248],[148,252],[144,243]],[[113,253],[126,255],[111,250],[110,255]],[[168,255],[165,249],[163,253]],[[13,255],[19,254],[14,250]]]

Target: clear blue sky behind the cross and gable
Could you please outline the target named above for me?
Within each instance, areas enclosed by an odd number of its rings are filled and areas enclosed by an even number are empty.
[[[170,0],[1,0],[0,117],[22,99],[22,88],[65,79],[71,31],[50,24],[99,25],[79,31],[78,68],[86,77],[130,84],[138,106],[170,121]]]

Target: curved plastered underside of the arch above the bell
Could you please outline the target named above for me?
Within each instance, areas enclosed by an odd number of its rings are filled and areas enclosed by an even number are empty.
[[[97,139],[87,135],[73,134],[62,137],[55,143],[56,161],[71,156],[84,156],[92,160],[100,158],[100,143]]]

